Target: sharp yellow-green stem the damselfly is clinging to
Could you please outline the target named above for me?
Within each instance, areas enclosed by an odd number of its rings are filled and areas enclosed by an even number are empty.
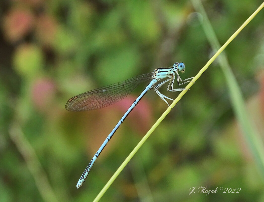
[[[211,63],[215,60],[215,58],[228,46],[228,44],[238,35],[239,32],[257,15],[257,13],[264,7],[264,2],[261,4],[260,7],[257,8],[257,10],[239,27],[239,29],[225,42],[225,44],[215,53],[215,55],[205,64],[205,66],[198,72],[198,74],[192,79],[193,82],[195,82],[202,73],[211,65]],[[191,86],[194,84],[193,82],[190,82],[186,89],[191,88]],[[170,105],[171,108],[173,108],[178,101],[182,98],[182,96],[187,92],[187,90],[182,91],[178,97],[173,101],[173,103]],[[128,155],[128,157],[125,159],[125,161],[121,164],[121,166],[117,169],[117,171],[114,173],[114,175],[110,178],[110,180],[106,183],[106,185],[103,187],[103,189],[99,192],[99,194],[96,196],[96,198],[93,200],[93,202],[97,202],[101,199],[103,194],[106,192],[106,190],[110,187],[110,185],[114,182],[116,177],[119,175],[119,173],[124,169],[126,164],[130,161],[130,159],[135,155],[135,153],[139,150],[139,148],[143,145],[143,143],[148,139],[150,134],[155,130],[155,128],[161,123],[161,121],[167,116],[167,114],[171,111],[171,108],[167,108],[166,111],[159,117],[159,119],[155,122],[155,124],[150,128],[150,130],[147,132],[147,134],[140,140],[138,145],[131,151],[131,153]]]

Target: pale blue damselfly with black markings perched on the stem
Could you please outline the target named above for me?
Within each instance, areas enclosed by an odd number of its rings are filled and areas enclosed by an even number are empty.
[[[168,104],[168,102],[165,100],[173,100],[171,98],[168,98],[167,96],[161,94],[158,89],[164,85],[165,83],[169,82],[167,91],[182,91],[182,90],[189,90],[185,88],[177,88],[173,89],[173,84],[175,81],[175,78],[177,78],[178,85],[186,84],[187,82],[190,82],[190,79],[193,79],[194,77],[184,79],[182,80],[181,77],[178,74],[178,71],[184,72],[185,71],[185,65],[181,62],[176,62],[172,68],[158,68],[155,69],[153,72],[148,74],[142,74],[139,76],[135,76],[131,79],[125,80],[123,82],[118,82],[109,86],[105,86],[102,88],[97,88],[95,90],[88,91],[86,93],[82,93],[79,95],[76,95],[68,100],[68,102],[65,105],[65,108],[69,111],[89,111],[93,109],[99,109],[106,107],[108,105],[114,104],[121,99],[128,96],[140,83],[150,80],[150,83],[147,85],[145,90],[139,95],[139,97],[133,102],[133,104],[130,106],[128,111],[122,116],[122,118],[118,121],[114,129],[111,131],[111,133],[107,136],[106,140],[103,142],[101,147],[98,149],[94,157],[92,158],[91,162],[87,166],[87,168],[84,170],[81,178],[79,179],[76,187],[79,188],[84,183],[87,175],[89,174],[93,164],[95,163],[96,159],[102,152],[103,148],[105,148],[106,144],[110,141],[114,133],[116,132],[117,128],[123,123],[125,118],[128,116],[128,114],[134,109],[134,107],[138,104],[139,100],[152,88],[154,88],[154,91],[158,94],[158,96]],[[159,80],[165,79],[164,81],[157,84]],[[183,83],[180,83],[183,82]],[[157,85],[156,85],[157,84]],[[169,105],[169,104],[168,104]]]

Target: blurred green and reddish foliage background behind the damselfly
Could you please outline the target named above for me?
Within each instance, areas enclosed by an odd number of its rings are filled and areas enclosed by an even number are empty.
[[[202,1],[220,44],[262,1]],[[74,95],[215,53],[191,1],[0,1],[0,201],[92,201],[167,105],[150,91],[76,183],[147,83],[109,107],[64,108]],[[264,11],[225,49],[249,120],[264,136]],[[224,53],[222,53],[224,54]],[[101,201],[263,201],[260,170],[216,60]],[[171,98],[178,93],[161,92]],[[208,187],[215,194],[190,193]],[[241,188],[222,193],[223,188]]]

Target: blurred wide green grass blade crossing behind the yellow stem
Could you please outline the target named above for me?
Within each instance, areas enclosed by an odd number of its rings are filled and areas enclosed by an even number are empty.
[[[201,1],[192,0],[192,4],[195,10],[202,15],[202,20],[200,18],[202,28],[211,47],[214,51],[216,51],[220,48],[220,44]],[[244,135],[244,138],[253,153],[255,162],[257,163],[260,173],[264,179],[264,146],[260,134],[257,132],[256,127],[254,127],[254,124],[252,123],[246,110],[241,90],[228,63],[227,57],[225,57],[224,54],[221,54],[219,56],[219,60],[221,61],[219,65],[224,73],[235,116],[237,117],[239,126],[242,129],[242,134]]]

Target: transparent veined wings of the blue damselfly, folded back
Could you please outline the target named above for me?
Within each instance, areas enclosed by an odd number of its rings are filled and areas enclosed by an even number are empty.
[[[140,83],[153,79],[153,74],[153,72],[142,74],[123,82],[76,95],[68,100],[65,108],[68,111],[89,111],[114,104],[128,96]]]

